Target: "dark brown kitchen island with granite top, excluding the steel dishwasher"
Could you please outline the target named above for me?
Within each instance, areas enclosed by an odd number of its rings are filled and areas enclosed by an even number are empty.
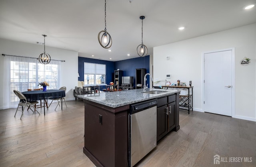
[[[158,94],[153,94],[156,91]],[[79,96],[84,99],[84,153],[96,166],[129,166],[128,115],[131,104],[157,100],[159,142],[171,130],[180,128],[179,94],[178,90],[147,88],[145,91],[134,89]],[[169,111],[169,115],[168,107],[173,111]]]

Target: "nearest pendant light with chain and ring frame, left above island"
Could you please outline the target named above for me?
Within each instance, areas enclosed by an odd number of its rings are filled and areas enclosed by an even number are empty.
[[[98,41],[102,47],[108,49],[112,45],[112,38],[106,29],[106,0],[105,0],[105,29],[98,33]]]

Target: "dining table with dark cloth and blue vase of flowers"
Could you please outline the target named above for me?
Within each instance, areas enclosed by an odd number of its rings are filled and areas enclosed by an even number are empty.
[[[39,83],[38,86],[43,86],[43,89],[41,90],[35,90],[31,89],[30,91],[22,92],[22,94],[27,98],[28,101],[38,101],[38,100],[44,100],[44,104],[46,104],[46,107],[48,108],[47,100],[58,100],[59,105],[61,100],[61,109],[62,109],[62,99],[66,96],[66,87],[63,86],[60,89],[47,89],[46,86],[50,86],[46,81]],[[64,99],[65,100],[65,99]],[[66,101],[65,101],[66,104]],[[56,108],[57,108],[56,106]],[[67,105],[66,105],[67,106]],[[45,115],[45,105],[44,107],[44,115]],[[55,110],[56,110],[55,108]]]

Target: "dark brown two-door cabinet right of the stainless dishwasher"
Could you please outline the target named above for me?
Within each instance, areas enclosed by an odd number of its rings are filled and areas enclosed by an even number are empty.
[[[178,130],[176,127],[176,96],[174,94],[157,99],[157,141],[173,129]]]

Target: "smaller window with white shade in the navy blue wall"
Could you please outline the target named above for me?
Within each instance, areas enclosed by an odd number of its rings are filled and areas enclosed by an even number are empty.
[[[84,63],[84,84],[105,84],[106,65]]]

